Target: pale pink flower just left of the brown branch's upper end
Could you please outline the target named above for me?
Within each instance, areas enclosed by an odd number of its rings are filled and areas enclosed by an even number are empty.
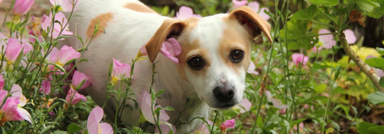
[[[331,33],[331,32],[326,29],[319,30],[319,34],[326,34],[326,33]],[[316,48],[316,46],[314,46],[312,48],[312,51],[317,51],[322,49],[331,49],[332,46],[336,45],[336,41],[333,40],[333,35],[320,35],[319,44],[321,46],[319,46],[319,48]]]

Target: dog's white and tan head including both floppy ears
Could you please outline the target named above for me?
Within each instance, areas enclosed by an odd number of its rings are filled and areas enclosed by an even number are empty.
[[[251,41],[261,32],[271,41],[270,25],[248,7],[228,14],[188,20],[165,20],[146,45],[153,62],[164,40],[176,38],[182,47],[178,71],[212,108],[239,103],[250,65]]]

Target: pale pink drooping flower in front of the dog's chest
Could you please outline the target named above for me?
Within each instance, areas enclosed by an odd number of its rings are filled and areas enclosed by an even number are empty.
[[[155,107],[155,104],[152,105],[151,94],[149,94],[146,90],[142,90],[141,93],[137,96],[137,104],[139,104],[139,109],[141,109],[141,113],[145,119],[152,124],[156,124],[154,117],[157,117],[157,115],[156,113],[153,115],[152,110],[154,111],[161,106],[157,105]],[[159,122],[166,122],[168,120],[169,116],[166,111],[164,109],[160,110]]]

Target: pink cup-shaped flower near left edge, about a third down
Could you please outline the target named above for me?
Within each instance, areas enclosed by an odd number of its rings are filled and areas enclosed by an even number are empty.
[[[20,44],[20,41],[16,38],[9,38],[7,48],[5,48],[5,57],[8,62],[15,62],[17,56],[23,50],[23,46]]]

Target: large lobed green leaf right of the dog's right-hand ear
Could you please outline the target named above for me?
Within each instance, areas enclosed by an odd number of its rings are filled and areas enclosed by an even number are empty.
[[[317,38],[314,39],[313,36],[308,36],[307,25],[308,21],[291,19],[286,24],[287,30],[285,31],[285,28],[280,30],[282,42],[285,43],[284,40],[288,41],[286,45],[288,45],[289,50],[298,50],[300,48],[308,50],[313,48],[314,44],[318,42]]]

